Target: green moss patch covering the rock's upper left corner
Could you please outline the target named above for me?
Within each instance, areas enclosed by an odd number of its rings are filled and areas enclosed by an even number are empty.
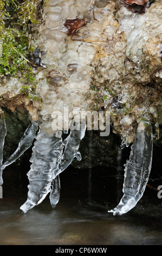
[[[33,52],[29,34],[33,33],[33,25],[38,23],[40,3],[41,0],[0,1],[0,76],[18,77],[22,83],[28,83],[32,92],[36,85],[33,67],[29,61]],[[27,89],[21,90],[27,94]]]

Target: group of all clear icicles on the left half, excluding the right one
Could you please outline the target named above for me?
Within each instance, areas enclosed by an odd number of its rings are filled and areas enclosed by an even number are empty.
[[[62,131],[57,131],[54,136],[41,129],[38,131],[38,124],[31,121],[27,130],[18,144],[16,151],[9,157],[7,161],[3,161],[4,139],[7,135],[7,127],[5,119],[0,122],[0,138],[1,138],[1,173],[0,185],[3,184],[2,172],[5,167],[15,162],[25,150],[31,147],[34,142],[33,154],[30,162],[31,168],[27,173],[29,179],[29,192],[27,202],[21,206],[23,212],[27,212],[35,205],[40,204],[42,200],[50,193],[50,203],[53,208],[59,202],[60,198],[60,179],[59,174],[66,169],[73,161],[74,157],[81,160],[79,153],[79,145],[81,139],[85,136],[86,124],[82,126],[82,130],[71,130],[66,139],[62,141]]]

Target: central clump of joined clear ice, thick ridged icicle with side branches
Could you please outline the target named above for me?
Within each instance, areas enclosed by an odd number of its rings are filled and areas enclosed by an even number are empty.
[[[57,131],[53,137],[49,137],[40,130],[34,143],[30,159],[32,164],[27,174],[28,198],[20,208],[24,213],[40,204],[48,193],[50,204],[55,208],[60,198],[59,174],[69,166],[74,157],[81,160],[78,149],[85,131],[86,125],[83,130],[70,131],[62,142],[62,131]]]

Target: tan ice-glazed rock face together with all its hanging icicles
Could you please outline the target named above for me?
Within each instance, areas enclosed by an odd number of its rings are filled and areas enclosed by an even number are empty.
[[[152,161],[151,125],[158,123],[161,113],[162,4],[155,0],[145,13],[136,14],[121,2],[127,1],[44,1],[43,22],[33,40],[33,47],[43,52],[42,66],[35,71],[42,101],[33,100],[31,107],[23,98],[33,121],[15,153],[4,163],[6,128],[4,120],[0,123],[1,179],[2,170],[36,139],[23,212],[40,204],[48,193],[55,208],[60,198],[59,174],[74,157],[81,159],[78,150],[86,124],[80,130],[70,130],[74,113],[99,111],[103,105],[111,113],[112,131],[120,134],[122,147],[133,143],[125,166],[124,196],[111,212],[126,213],[144,193]],[[10,99],[15,99],[19,87],[20,81],[11,78],[7,86],[0,88],[2,106],[8,102],[14,111],[17,102]],[[69,115],[65,118],[67,109]],[[63,131],[70,132],[64,140]]]

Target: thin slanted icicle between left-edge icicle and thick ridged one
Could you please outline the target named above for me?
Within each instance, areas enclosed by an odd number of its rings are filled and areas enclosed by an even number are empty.
[[[33,140],[36,137],[37,129],[37,123],[35,121],[31,121],[31,124],[28,126],[27,130],[24,132],[23,137],[18,143],[16,151],[9,157],[7,161],[2,164],[2,170],[4,170],[4,168],[9,166],[11,163],[15,162],[18,157],[20,157],[24,153],[25,150],[31,147]]]

